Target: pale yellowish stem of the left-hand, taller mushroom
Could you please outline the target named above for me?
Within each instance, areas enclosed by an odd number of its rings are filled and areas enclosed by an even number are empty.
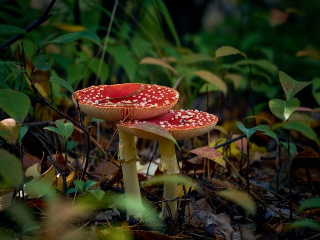
[[[136,161],[139,160],[136,154],[134,136],[124,131],[119,131],[119,151],[118,159],[122,163],[122,173],[127,201],[127,217],[133,215],[135,219],[143,217],[142,200]],[[134,203],[134,204],[132,204]]]

